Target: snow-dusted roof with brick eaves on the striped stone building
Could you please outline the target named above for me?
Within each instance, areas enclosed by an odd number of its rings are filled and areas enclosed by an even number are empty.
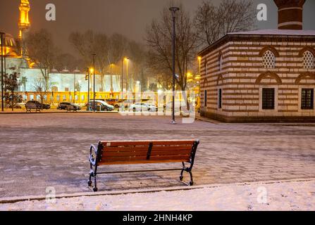
[[[210,46],[206,47],[204,50],[198,53],[199,56],[204,56],[204,54],[209,53],[212,49],[216,49],[218,46],[225,44],[227,41],[256,41],[260,39],[314,39],[315,40],[315,30],[254,30],[248,32],[233,32],[228,33],[218,41],[214,42]]]

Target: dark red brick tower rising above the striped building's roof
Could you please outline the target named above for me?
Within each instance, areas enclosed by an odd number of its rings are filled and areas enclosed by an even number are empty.
[[[274,0],[278,6],[278,29],[302,30],[303,5],[306,0]]]

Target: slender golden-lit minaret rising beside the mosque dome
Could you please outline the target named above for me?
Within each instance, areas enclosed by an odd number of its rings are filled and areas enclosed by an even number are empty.
[[[20,7],[18,9],[20,10],[20,18],[18,21],[20,33],[18,37],[20,38],[21,42],[21,56],[25,56],[26,46],[24,39],[25,33],[27,33],[27,30],[30,28],[30,20],[28,18],[28,13],[30,12],[30,2],[28,0],[21,0]]]

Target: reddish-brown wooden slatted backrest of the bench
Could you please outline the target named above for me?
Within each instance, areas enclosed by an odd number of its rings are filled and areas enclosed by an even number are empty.
[[[199,141],[100,141],[98,165],[192,162]]]

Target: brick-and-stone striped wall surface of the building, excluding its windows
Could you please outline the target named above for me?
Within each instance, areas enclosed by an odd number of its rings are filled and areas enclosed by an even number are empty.
[[[266,51],[276,56],[275,68],[264,68],[262,56]],[[300,109],[301,89],[315,89],[315,70],[303,68],[304,51],[311,51],[315,56],[315,39],[228,41],[206,53],[202,56],[202,115],[231,122],[315,117],[315,110]],[[275,110],[261,109],[264,87],[276,90]],[[218,89],[222,89],[221,109]],[[206,107],[204,90],[207,90]]]

